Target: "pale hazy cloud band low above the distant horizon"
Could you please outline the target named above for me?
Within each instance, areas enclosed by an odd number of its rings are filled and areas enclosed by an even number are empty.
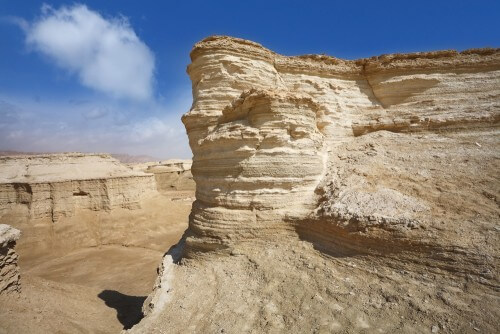
[[[137,108],[145,107],[144,103],[36,102],[0,95],[0,150],[189,158],[191,150],[180,116],[190,103],[186,92],[167,104],[148,103],[148,115],[141,115]]]

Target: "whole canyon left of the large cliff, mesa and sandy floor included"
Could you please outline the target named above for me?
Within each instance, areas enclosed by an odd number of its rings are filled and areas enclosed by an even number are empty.
[[[0,157],[0,333],[116,333],[141,319],[194,197],[190,161],[148,165],[161,180],[108,154]]]

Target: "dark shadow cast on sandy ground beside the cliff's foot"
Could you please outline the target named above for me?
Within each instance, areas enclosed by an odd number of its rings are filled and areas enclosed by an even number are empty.
[[[146,297],[128,296],[115,290],[103,290],[97,295],[104,303],[116,310],[116,317],[123,329],[130,329],[137,324],[144,314],[142,304]]]

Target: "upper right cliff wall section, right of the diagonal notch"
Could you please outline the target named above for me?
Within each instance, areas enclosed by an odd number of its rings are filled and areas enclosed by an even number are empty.
[[[383,109],[358,120],[353,131],[490,127],[499,120],[499,69],[497,49],[367,59],[364,74]]]

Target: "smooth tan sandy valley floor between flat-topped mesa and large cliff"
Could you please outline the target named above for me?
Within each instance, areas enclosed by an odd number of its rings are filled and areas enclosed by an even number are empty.
[[[192,192],[149,198],[142,209],[82,211],[52,223],[19,211],[22,293],[0,299],[0,333],[118,333],[142,317],[165,250],[187,227]],[[56,226],[57,225],[57,226]]]

